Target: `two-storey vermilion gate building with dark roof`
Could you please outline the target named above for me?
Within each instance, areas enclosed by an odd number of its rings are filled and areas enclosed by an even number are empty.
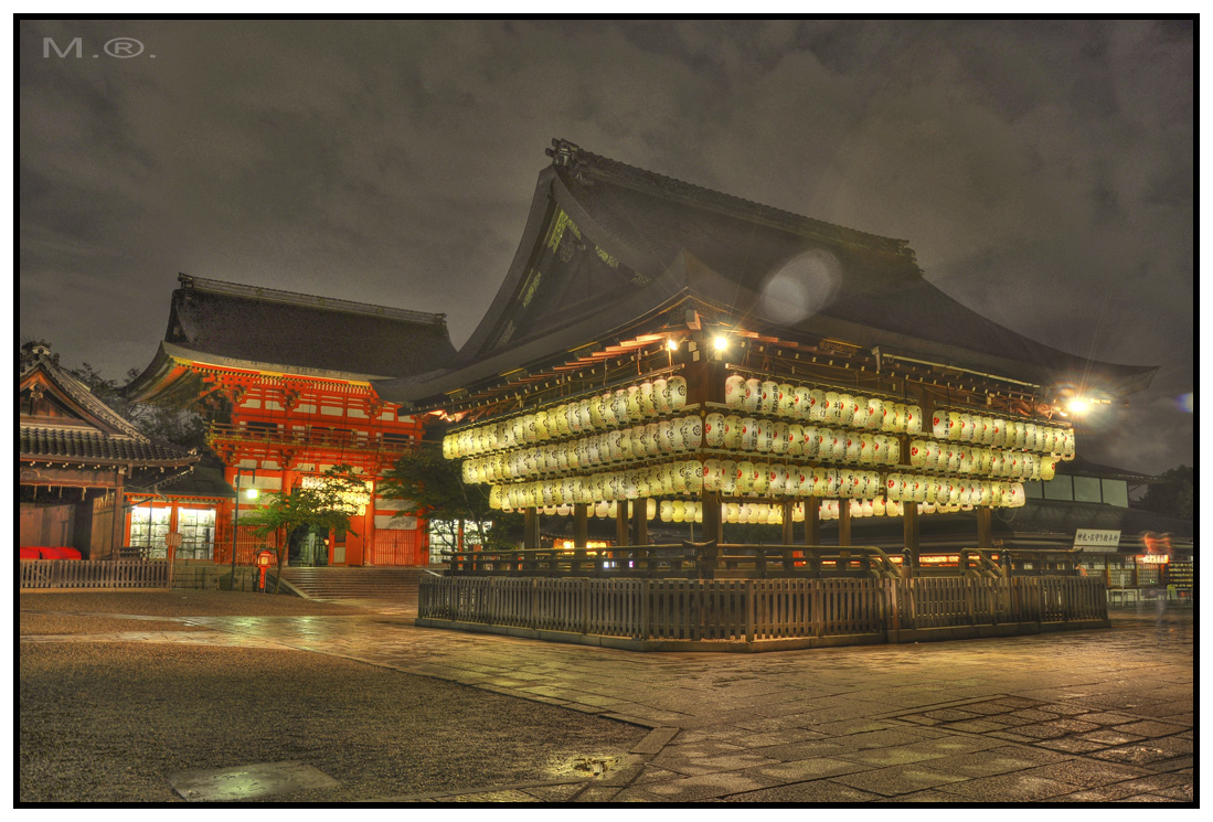
[[[425,521],[394,516],[400,503],[377,495],[380,475],[414,447],[422,426],[371,381],[444,366],[455,353],[445,315],[184,274],[180,281],[164,342],[127,388],[131,398],[203,412],[223,478],[241,491],[323,481],[336,466],[365,480],[353,532],[292,535],[291,565],[427,564]],[[232,560],[232,504],[216,512],[221,564]],[[245,512],[258,503],[237,504]],[[238,563],[251,563],[258,546],[238,526]]]

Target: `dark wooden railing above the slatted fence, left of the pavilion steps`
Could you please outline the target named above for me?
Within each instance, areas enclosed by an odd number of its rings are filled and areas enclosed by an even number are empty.
[[[668,543],[600,550],[500,549],[451,554],[451,576],[610,578],[885,578],[900,576],[871,546],[718,546]]]

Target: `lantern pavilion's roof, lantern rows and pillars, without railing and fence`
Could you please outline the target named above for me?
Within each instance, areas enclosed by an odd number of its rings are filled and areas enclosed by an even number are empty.
[[[904,240],[801,217],[553,141],[508,274],[440,372],[375,381],[451,423],[468,481],[528,520],[779,524],[837,544],[894,518],[991,512],[1075,457],[1070,403],[1156,367],[1030,339],[933,286]],[[1008,301],[1020,298],[1014,287]],[[793,523],[804,524],[803,540]]]

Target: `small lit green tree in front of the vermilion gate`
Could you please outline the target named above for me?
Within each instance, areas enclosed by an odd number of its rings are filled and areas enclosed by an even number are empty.
[[[358,497],[366,496],[366,484],[354,475],[349,466],[337,466],[325,472],[325,483],[318,486],[296,486],[290,491],[272,491],[266,506],[240,518],[243,525],[254,526],[254,533],[264,540],[274,536],[273,550],[278,558],[274,593],[283,576],[283,560],[290,547],[290,535],[306,526],[319,531],[346,531],[358,536],[349,526],[349,518],[358,513]]]

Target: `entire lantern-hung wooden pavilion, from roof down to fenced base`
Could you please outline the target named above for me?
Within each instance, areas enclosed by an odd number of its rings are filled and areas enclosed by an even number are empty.
[[[375,382],[442,418],[465,481],[525,521],[520,549],[456,552],[422,578],[417,624],[744,651],[1110,624],[1104,580],[1074,552],[1058,567],[996,546],[993,513],[1076,458],[1081,404],[1121,404],[1157,369],[989,320],[902,240],[568,141],[548,155],[450,366]],[[543,536],[560,516],[571,546]],[[924,565],[923,520],[962,516],[953,566]],[[609,544],[591,518],[614,523]],[[899,525],[896,549],[855,538],[871,521]],[[729,543],[728,523],[781,538]]]

